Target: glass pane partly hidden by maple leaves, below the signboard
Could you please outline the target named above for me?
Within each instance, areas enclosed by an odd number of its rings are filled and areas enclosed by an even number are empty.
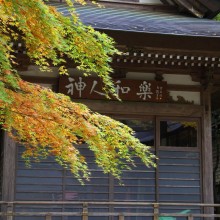
[[[140,140],[142,144],[147,146],[154,146],[155,132],[153,120],[132,120],[123,119],[120,120],[135,131],[135,136]]]

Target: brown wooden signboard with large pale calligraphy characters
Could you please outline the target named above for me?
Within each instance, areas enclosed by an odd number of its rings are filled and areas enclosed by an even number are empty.
[[[113,79],[113,82],[121,100],[165,102],[167,99],[167,83],[163,81]],[[74,99],[106,99],[102,88],[102,81],[95,77],[61,76],[59,80],[59,92]]]

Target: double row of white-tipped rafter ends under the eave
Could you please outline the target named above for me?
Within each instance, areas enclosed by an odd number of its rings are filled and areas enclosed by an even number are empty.
[[[120,48],[123,54],[114,58],[115,65],[126,64],[127,67],[157,66],[177,67],[186,69],[220,70],[220,54],[199,52],[150,50],[147,48]]]

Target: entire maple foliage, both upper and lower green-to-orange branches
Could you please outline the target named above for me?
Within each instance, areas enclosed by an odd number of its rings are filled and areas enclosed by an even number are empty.
[[[154,166],[149,147],[141,144],[129,127],[65,95],[28,83],[17,73],[11,42],[22,40],[28,57],[42,70],[49,71],[52,64],[59,67],[60,74],[67,74],[68,58],[86,74],[97,73],[106,95],[114,94],[109,76],[111,56],[118,53],[114,41],[84,26],[72,2],[66,2],[71,17],[64,17],[41,0],[0,0],[2,128],[25,146],[23,157],[27,161],[53,155],[78,179],[89,177],[86,158],[77,149],[81,142],[88,144],[103,171],[116,177],[123,169],[130,169],[134,155]]]

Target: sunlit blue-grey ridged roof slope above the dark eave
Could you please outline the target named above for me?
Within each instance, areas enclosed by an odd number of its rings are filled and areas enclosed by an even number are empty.
[[[65,3],[50,3],[69,16]],[[179,14],[152,12],[95,5],[75,5],[80,19],[86,25],[101,30],[118,30],[184,36],[220,37],[220,22]]]

